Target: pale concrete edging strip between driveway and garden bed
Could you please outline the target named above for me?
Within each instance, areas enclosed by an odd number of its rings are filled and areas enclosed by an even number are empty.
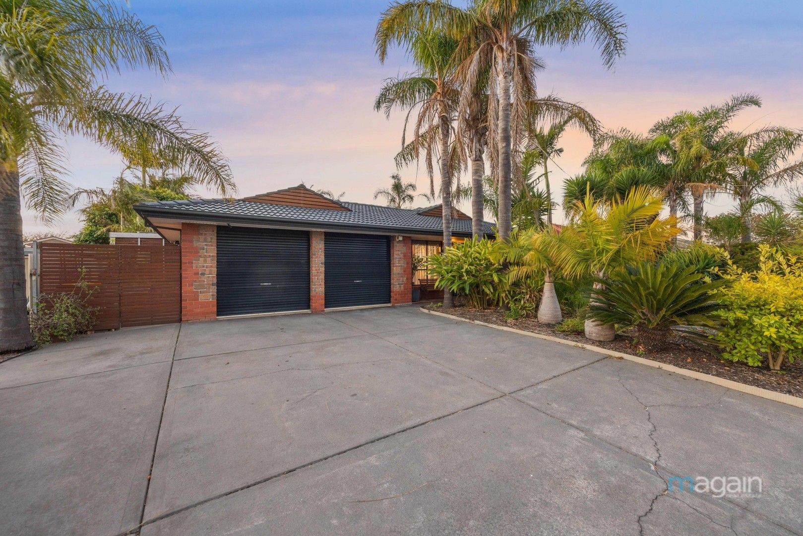
[[[785,403],[789,404],[789,406],[803,408],[803,399],[797,396],[786,395],[785,393],[779,393],[777,391],[769,391],[768,389],[762,389],[761,387],[753,387],[752,385],[734,382],[733,380],[730,379],[719,378],[718,376],[712,376],[711,374],[703,374],[702,372],[697,372],[695,370],[682,369],[679,366],[668,365],[666,363],[653,361],[651,359],[639,358],[636,355],[624,354],[616,350],[607,350],[605,348],[601,348],[600,346],[593,346],[589,344],[583,344],[581,342],[573,342],[558,337],[552,337],[551,335],[534,333],[532,331],[525,331],[524,329],[509,328],[505,325],[489,324],[487,322],[479,320],[469,320],[468,318],[455,317],[454,315],[451,314],[440,313],[438,311],[433,311],[432,309],[426,309],[424,307],[420,307],[419,310],[422,311],[423,313],[451,318],[452,320],[459,320],[463,322],[468,322],[470,324],[484,325],[489,328],[501,329],[502,331],[509,331],[511,333],[518,333],[520,335],[525,335],[527,337],[540,338],[546,341],[558,342],[566,346],[574,346],[575,348],[581,348],[583,350],[591,350],[592,352],[597,352],[597,354],[605,354],[613,358],[622,358],[628,361],[641,363],[642,365],[652,366],[653,368],[656,369],[668,370],[669,372],[674,372],[675,374],[680,374],[682,376],[686,376],[687,378],[695,378],[702,380],[703,382],[713,383],[714,385],[718,385],[719,387],[727,387],[728,389],[732,389],[733,391],[739,391],[741,393],[746,393],[748,395],[758,396],[762,399],[773,400],[774,402]]]

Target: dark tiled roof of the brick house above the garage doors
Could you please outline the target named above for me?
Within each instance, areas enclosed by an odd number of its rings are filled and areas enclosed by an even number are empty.
[[[288,200],[287,192],[295,192],[296,197]],[[146,220],[149,220],[151,227],[157,231],[161,227],[170,228],[169,223],[162,223],[165,221],[207,221],[344,232],[374,231],[383,234],[439,235],[442,233],[441,217],[431,215],[433,209],[438,206],[426,209],[406,209],[345,201],[335,202],[331,199],[328,201],[332,205],[327,207],[298,206],[309,204],[308,201],[312,201],[312,196],[308,192],[312,192],[318,198],[328,199],[304,186],[294,186],[286,190],[278,190],[278,193],[283,194],[279,199],[281,204],[271,203],[276,200],[274,196],[277,192],[270,192],[233,201],[190,199],[140,203],[134,209]],[[303,203],[296,203],[299,200]],[[428,214],[422,214],[422,211]],[[492,225],[492,223],[483,222],[483,229],[488,235],[493,234]],[[471,219],[453,219],[452,232],[457,236],[471,236]]]

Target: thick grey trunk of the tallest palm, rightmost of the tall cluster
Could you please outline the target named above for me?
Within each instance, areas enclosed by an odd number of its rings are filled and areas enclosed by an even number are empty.
[[[501,57],[500,57],[501,56]],[[499,79],[499,238],[507,239],[512,229],[512,163],[510,125],[510,65],[505,51],[497,52],[497,77]]]

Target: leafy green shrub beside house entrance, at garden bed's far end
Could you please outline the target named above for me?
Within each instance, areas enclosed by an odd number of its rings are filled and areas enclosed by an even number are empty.
[[[488,239],[471,239],[430,256],[430,272],[438,276],[435,288],[448,288],[476,309],[499,305],[507,278],[491,258],[492,248]]]

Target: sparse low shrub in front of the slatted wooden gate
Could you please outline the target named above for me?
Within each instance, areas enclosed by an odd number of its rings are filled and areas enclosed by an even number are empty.
[[[96,307],[88,305],[94,290],[80,270],[78,283],[69,293],[43,294],[36,301],[37,313],[31,313],[31,333],[36,344],[50,344],[54,338],[71,341],[95,326]]]

